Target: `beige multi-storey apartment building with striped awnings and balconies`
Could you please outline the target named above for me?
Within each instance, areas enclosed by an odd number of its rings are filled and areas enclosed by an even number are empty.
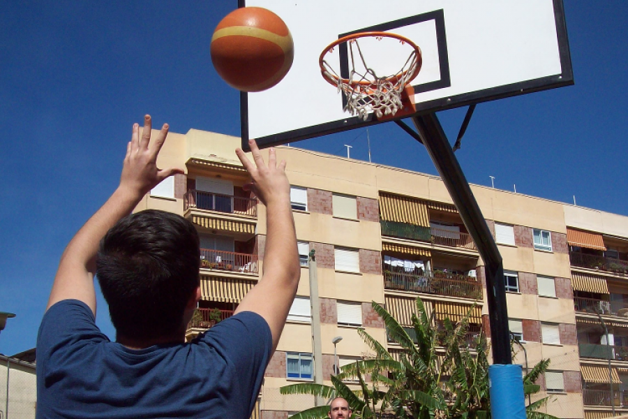
[[[248,175],[234,153],[238,145],[239,138],[217,133],[170,133],[158,164],[186,174],[166,179],[137,207],[181,214],[200,233],[202,300],[190,339],[231,316],[264,266],[265,208],[242,189]],[[313,381],[315,361],[331,383],[336,362],[368,357],[359,327],[391,353],[401,351],[387,341],[372,301],[404,326],[418,296],[435,327],[474,307],[471,335],[490,335],[484,267],[439,177],[294,147],[276,150],[287,161],[301,281],[254,416],[283,419],[314,406],[313,397],[281,395],[279,388]],[[472,191],[504,259],[509,326],[518,341],[514,360],[525,369],[551,359],[537,395],[552,396],[544,411],[574,419],[628,412],[622,410],[628,405],[622,396],[628,217],[484,186]],[[312,249],[320,307],[314,324]],[[322,338],[320,361],[313,357],[313,328]]]

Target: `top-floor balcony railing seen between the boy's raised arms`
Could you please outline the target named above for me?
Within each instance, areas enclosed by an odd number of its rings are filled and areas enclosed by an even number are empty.
[[[226,212],[227,214],[257,216],[257,200],[255,198],[190,189],[184,195],[184,212],[193,208]]]

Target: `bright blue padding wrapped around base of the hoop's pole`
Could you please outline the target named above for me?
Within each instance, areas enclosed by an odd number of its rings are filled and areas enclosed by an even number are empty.
[[[488,367],[492,419],[525,419],[525,395],[521,365]]]

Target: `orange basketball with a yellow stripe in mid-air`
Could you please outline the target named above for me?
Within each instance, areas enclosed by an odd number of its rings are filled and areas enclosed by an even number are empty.
[[[241,91],[262,91],[281,82],[292,66],[294,44],[275,13],[238,8],[220,21],[211,37],[211,62],[227,84]]]

